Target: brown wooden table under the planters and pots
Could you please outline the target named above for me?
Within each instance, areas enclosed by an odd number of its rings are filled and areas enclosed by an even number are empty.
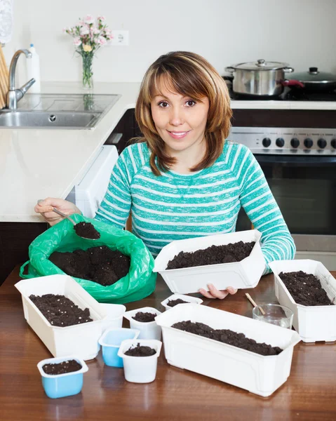
[[[2,421],[336,420],[336,344],[323,342],[295,346],[288,381],[268,398],[170,366],[162,350],[152,383],[126,382],[123,369],[105,366],[100,353],[88,361],[81,394],[49,399],[36,363],[51,354],[24,319],[21,296],[14,287],[19,280],[15,268],[0,288]],[[245,292],[204,304],[251,316]],[[257,302],[276,302],[273,276],[264,276],[250,293]],[[160,302],[169,295],[166,283],[158,279],[155,293],[127,308],[162,310]]]

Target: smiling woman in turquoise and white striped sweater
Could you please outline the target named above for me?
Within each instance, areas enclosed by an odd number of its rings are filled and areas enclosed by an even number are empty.
[[[266,262],[292,259],[293,238],[259,164],[247,147],[226,140],[229,102],[222,77],[200,55],[161,55],[135,107],[144,137],[119,156],[95,219],[122,229],[131,212],[133,234],[155,257],[176,239],[234,232],[243,206],[262,232]],[[80,213],[73,203],[45,199],[35,210],[51,225],[62,219],[52,206]],[[208,288],[200,290],[207,298],[236,293]]]

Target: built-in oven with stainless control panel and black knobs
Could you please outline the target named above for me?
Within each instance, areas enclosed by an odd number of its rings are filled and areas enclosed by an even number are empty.
[[[234,109],[229,140],[260,163],[297,247],[336,270],[336,111]],[[250,229],[241,210],[237,230]]]

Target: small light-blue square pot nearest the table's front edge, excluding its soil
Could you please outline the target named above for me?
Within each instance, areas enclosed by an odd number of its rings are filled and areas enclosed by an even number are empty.
[[[72,359],[81,364],[80,370],[57,375],[44,373],[43,366],[45,364],[57,364]],[[74,355],[44,359],[37,364],[37,368],[39,368],[39,372],[42,376],[44,392],[46,392],[46,395],[49,398],[53,399],[64,398],[65,396],[72,396],[81,392],[81,388],[83,387],[83,373],[88,371],[88,366],[86,366],[83,359]]]

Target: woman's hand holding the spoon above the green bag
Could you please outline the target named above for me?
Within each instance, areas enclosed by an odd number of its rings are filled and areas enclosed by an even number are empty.
[[[62,213],[65,213],[65,215],[81,213],[74,203],[64,199],[55,199],[53,197],[47,197],[46,199],[39,201],[34,210],[36,213],[41,213],[44,220],[53,226],[64,219],[62,216],[58,215],[58,213],[53,212],[53,208],[60,210]]]

